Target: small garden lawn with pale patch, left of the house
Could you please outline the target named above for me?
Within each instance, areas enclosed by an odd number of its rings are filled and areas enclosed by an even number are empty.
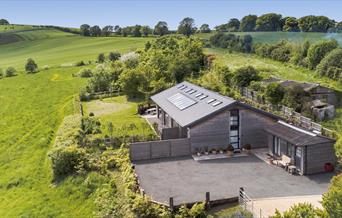
[[[105,107],[99,107],[101,102]],[[102,126],[102,134],[110,135],[108,123],[114,126],[116,137],[121,136],[147,136],[154,134],[152,128],[146,120],[137,114],[137,105],[140,100],[129,100],[126,96],[105,98],[83,103],[85,115],[93,112],[99,118]],[[97,115],[98,114],[98,115]]]

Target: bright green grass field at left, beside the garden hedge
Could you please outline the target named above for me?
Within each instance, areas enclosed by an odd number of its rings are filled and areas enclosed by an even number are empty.
[[[47,152],[85,79],[59,68],[0,80],[0,217],[89,217],[83,178],[57,187]],[[57,79],[56,79],[57,78]]]

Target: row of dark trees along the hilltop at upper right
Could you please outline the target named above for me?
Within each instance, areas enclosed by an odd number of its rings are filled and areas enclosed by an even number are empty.
[[[218,32],[342,32],[342,22],[326,16],[283,17],[281,14],[267,13],[261,16],[247,15],[241,20],[232,18],[228,23],[215,27]]]

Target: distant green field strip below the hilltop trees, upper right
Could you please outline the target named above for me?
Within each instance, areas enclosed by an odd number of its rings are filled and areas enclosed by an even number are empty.
[[[281,40],[289,40],[292,42],[304,42],[308,40],[315,42],[323,39],[336,39],[342,45],[341,33],[296,33],[296,32],[232,32],[237,35],[250,34],[256,43],[277,43]],[[199,37],[209,39],[214,33],[201,33]]]

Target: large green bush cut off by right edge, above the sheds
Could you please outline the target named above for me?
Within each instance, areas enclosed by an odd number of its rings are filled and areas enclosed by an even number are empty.
[[[342,49],[336,48],[325,56],[317,66],[317,73],[332,79],[342,78]]]

